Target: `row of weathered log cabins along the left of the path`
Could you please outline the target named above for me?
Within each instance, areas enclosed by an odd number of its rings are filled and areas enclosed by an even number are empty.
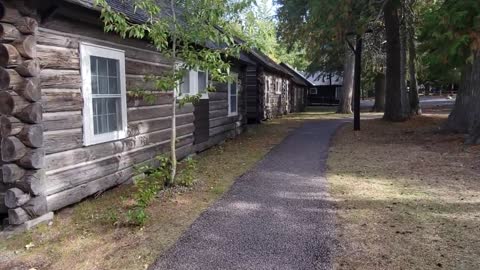
[[[157,93],[152,104],[129,90],[148,89],[144,76],[172,63],[148,42],[104,33],[93,0],[0,2],[0,66],[5,227],[34,226],[129,181],[135,165],[169,150],[173,93]],[[178,108],[179,158],[306,105],[308,81],[258,51],[232,60],[232,71],[235,81]],[[186,80],[181,91],[196,93],[208,74]]]

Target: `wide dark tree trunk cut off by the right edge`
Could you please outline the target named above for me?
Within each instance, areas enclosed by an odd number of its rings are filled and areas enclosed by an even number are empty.
[[[446,129],[468,133],[466,143],[480,143],[480,52],[475,53],[472,64],[462,72],[462,82]]]

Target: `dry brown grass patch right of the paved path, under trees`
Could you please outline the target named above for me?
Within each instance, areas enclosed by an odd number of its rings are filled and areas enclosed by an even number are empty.
[[[337,269],[479,269],[480,148],[439,134],[445,117],[339,130],[328,159]]]

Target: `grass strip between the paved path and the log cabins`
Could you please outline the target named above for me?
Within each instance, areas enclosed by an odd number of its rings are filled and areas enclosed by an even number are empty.
[[[162,192],[143,228],[119,227],[112,211],[133,191],[122,186],[56,213],[53,225],[0,239],[0,269],[145,269],[166,251],[233,181],[309,119],[336,117],[328,110],[252,126],[237,139],[198,156],[197,184]],[[26,248],[28,246],[28,249]]]

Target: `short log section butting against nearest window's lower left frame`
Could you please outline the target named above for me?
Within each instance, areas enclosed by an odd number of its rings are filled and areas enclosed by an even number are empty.
[[[83,132],[81,129],[48,131],[45,132],[44,137],[44,146],[47,154],[83,146]]]

